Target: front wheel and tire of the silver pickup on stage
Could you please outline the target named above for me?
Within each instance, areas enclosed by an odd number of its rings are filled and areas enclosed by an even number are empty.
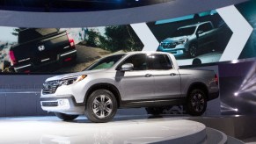
[[[92,122],[105,123],[113,119],[117,111],[117,101],[109,90],[95,90],[88,97],[85,115]]]

